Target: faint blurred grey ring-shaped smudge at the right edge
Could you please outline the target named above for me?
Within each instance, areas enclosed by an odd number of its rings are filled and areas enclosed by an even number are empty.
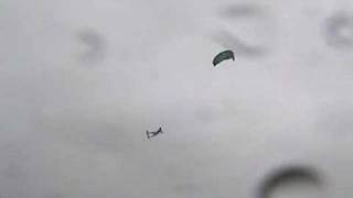
[[[324,28],[329,45],[338,48],[353,46],[353,15],[339,12],[327,19]]]

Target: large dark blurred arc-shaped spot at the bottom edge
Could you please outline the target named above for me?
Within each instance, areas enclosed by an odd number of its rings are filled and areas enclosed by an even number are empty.
[[[285,187],[290,186],[297,189],[302,185],[319,190],[323,186],[321,174],[307,166],[280,167],[265,177],[258,189],[258,198],[270,198],[274,193]]]

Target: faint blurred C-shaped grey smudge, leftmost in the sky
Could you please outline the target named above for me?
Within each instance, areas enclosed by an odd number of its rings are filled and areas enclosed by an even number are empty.
[[[106,42],[104,36],[95,30],[86,29],[77,34],[78,40],[87,48],[82,55],[81,61],[85,63],[96,63],[104,59]]]

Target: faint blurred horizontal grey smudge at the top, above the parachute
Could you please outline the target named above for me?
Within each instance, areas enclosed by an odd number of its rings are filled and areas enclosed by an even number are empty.
[[[263,13],[260,8],[254,4],[234,4],[221,10],[221,15],[226,18],[257,16]]]

